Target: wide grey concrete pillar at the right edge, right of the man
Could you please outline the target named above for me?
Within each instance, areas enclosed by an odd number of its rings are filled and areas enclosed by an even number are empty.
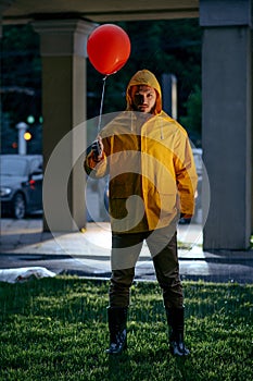
[[[203,161],[211,185],[204,250],[238,250],[250,246],[251,10],[251,0],[200,0]]]

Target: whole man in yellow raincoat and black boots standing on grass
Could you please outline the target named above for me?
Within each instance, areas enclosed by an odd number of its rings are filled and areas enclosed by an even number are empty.
[[[110,174],[112,276],[107,308],[109,354],[127,346],[127,310],[143,241],[163,291],[174,355],[186,356],[184,295],[177,255],[177,222],[194,212],[197,173],[188,135],[162,110],[161,87],[148,70],[126,91],[127,109],[100,133],[85,160],[94,177]]]

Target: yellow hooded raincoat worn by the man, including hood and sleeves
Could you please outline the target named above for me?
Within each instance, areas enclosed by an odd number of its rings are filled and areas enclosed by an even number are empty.
[[[154,114],[132,111],[130,87],[156,90]],[[127,109],[102,131],[103,160],[89,153],[88,174],[110,174],[112,231],[135,233],[167,226],[179,213],[193,214],[197,173],[187,132],[162,110],[155,76],[137,72],[126,93]]]

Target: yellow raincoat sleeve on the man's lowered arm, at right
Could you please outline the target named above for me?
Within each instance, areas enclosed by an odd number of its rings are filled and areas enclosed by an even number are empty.
[[[174,160],[180,212],[191,217],[194,213],[198,175],[187,133],[180,132],[178,136]]]

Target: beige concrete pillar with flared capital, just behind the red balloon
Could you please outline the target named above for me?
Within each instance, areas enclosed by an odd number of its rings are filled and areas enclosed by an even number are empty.
[[[86,46],[94,26],[84,20],[34,23],[42,58],[45,230],[54,232],[86,224]]]

